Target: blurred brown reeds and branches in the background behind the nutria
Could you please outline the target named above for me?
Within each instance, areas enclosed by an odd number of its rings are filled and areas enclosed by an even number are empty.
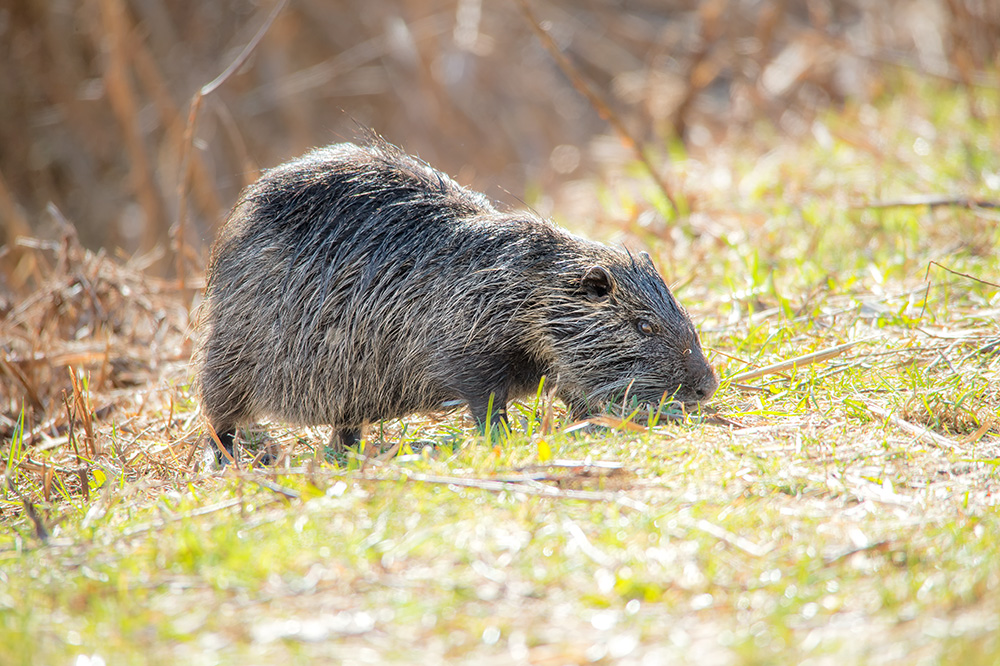
[[[84,246],[145,253],[160,275],[200,271],[261,169],[363,128],[493,199],[550,212],[537,193],[558,207],[559,193],[570,197],[574,183],[634,153],[538,27],[663,174],[668,146],[703,154],[761,121],[802,134],[832,105],[884,94],[901,71],[996,87],[1000,64],[993,0],[290,0],[249,59],[204,97],[186,139],[195,93],[275,6],[0,4],[8,293],[32,275],[14,239],[57,240],[65,221]],[[172,258],[177,248],[186,264]]]

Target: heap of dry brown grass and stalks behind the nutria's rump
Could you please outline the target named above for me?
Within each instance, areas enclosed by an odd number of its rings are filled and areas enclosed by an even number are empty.
[[[44,284],[0,319],[0,440],[18,429],[23,413],[24,444],[36,444],[51,428],[63,435],[60,443],[76,447],[73,426],[82,423],[85,450],[77,447],[76,456],[94,459],[106,452],[92,419],[112,407],[125,410],[132,416],[119,428],[132,432],[143,407],[173,411],[161,402],[173,398],[156,380],[167,366],[185,375],[187,304],[173,282],[150,278],[138,260],[81,247],[72,227],[62,224],[59,241],[28,248],[42,265]],[[123,452],[115,453],[121,459]]]

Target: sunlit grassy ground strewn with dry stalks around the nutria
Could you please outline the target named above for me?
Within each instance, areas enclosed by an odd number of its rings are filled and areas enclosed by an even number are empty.
[[[1000,99],[898,85],[664,151],[680,215],[638,167],[549,202],[648,249],[701,331],[722,386],[655,424],[543,392],[502,441],[263,424],[276,465],[216,470],[199,278],[22,243],[0,663],[997,663]]]

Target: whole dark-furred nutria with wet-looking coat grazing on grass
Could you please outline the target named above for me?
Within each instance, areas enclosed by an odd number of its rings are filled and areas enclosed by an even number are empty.
[[[707,400],[718,381],[646,253],[574,236],[381,140],[267,171],[212,249],[196,352],[232,452],[258,417],[366,424],[468,404],[480,427],[542,377],[573,415]]]

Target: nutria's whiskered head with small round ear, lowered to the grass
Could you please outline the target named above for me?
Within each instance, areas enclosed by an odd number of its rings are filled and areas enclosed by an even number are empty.
[[[559,397],[574,412],[622,400],[694,406],[719,382],[698,332],[645,252],[587,244],[554,267],[543,310]],[[555,284],[558,282],[558,284]]]

